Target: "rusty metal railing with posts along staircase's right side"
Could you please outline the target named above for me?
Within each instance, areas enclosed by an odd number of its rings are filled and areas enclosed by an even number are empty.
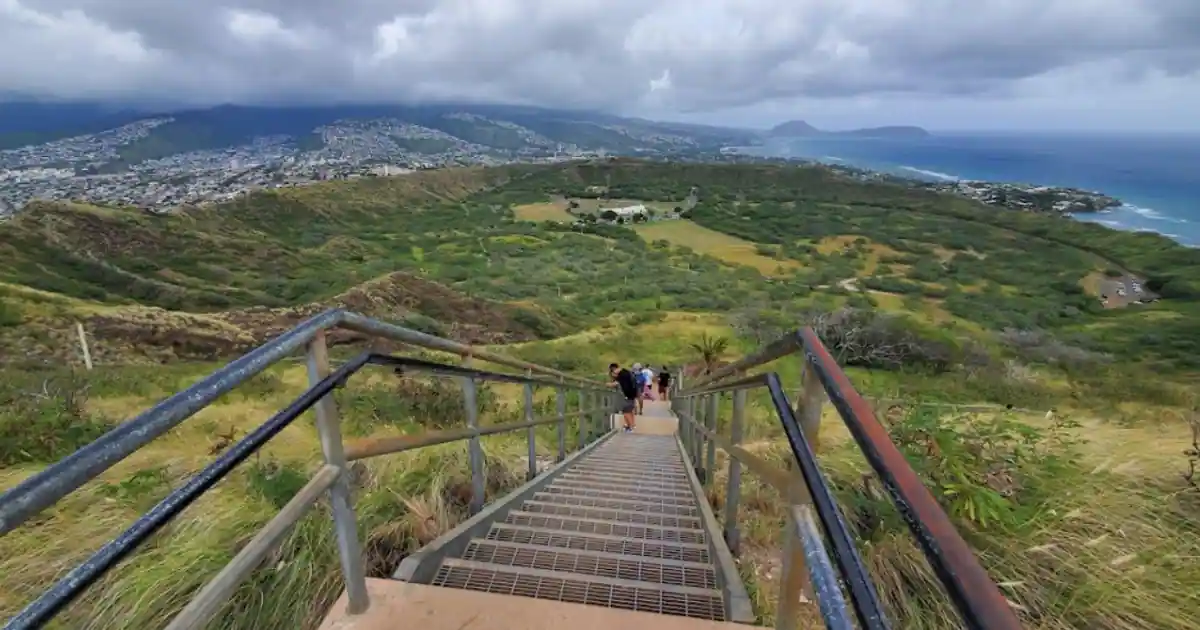
[[[746,376],[751,370],[791,355],[799,355],[803,361],[802,392],[794,408],[775,372]],[[791,448],[791,470],[780,469],[739,446],[746,390],[755,388],[766,388],[769,392]],[[724,394],[732,394],[733,397],[730,437],[718,432],[719,400]],[[845,518],[817,466],[821,404],[824,398],[836,408],[882,481],[966,626],[972,630],[1020,629],[1020,622],[998,586],[988,576],[971,547],[892,442],[872,407],[854,390],[811,328],[785,335],[738,361],[688,383],[672,398],[680,419],[680,439],[706,485],[712,485],[716,448],[720,446],[730,456],[722,517],[726,542],[732,550],[737,550],[740,536],[737,514],[742,466],[776,488],[788,502],[790,526],[780,576],[776,628],[794,628],[800,592],[808,590],[805,571],[816,587],[827,626],[851,628],[840,588],[836,587],[839,578],[846,586],[862,628],[875,630],[890,626]],[[824,542],[820,538],[812,539],[816,532],[811,523],[812,512],[829,540],[838,575],[833,574],[828,558],[822,559]]]

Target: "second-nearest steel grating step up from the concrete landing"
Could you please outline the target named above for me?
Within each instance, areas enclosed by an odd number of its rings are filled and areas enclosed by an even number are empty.
[[[678,560],[648,559],[637,556],[556,550],[494,540],[472,540],[462,559],[503,566],[542,569],[581,576],[613,577],[646,582],[653,587],[676,586],[703,589],[716,588],[716,571],[712,565]]]

